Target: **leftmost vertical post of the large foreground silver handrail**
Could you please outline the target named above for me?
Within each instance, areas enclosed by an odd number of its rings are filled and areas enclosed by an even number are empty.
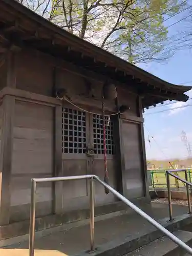
[[[30,207],[30,226],[29,226],[29,256],[34,256],[35,239],[35,194],[36,181],[31,180],[31,207]]]

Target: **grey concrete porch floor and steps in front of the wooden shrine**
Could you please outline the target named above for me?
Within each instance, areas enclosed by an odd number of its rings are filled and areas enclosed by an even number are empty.
[[[184,214],[184,206],[174,206],[173,211],[175,220],[169,222],[166,204],[152,204],[150,210],[146,209],[148,215],[191,247],[192,215]],[[28,256],[28,240],[25,237],[18,243],[18,239],[7,241],[0,255]],[[95,245],[96,250],[90,252],[89,220],[35,234],[35,256],[189,256],[142,217],[124,212],[95,219]]]

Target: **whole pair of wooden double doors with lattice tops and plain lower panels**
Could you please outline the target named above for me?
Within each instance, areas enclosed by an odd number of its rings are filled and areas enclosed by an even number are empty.
[[[106,117],[107,120],[107,117]],[[110,185],[115,186],[114,122],[106,126],[106,147]],[[62,172],[64,176],[95,174],[103,179],[102,116],[72,108],[62,108]],[[113,202],[112,194],[95,183],[96,205]],[[87,208],[89,187],[86,180],[63,182],[63,205],[66,209]]]

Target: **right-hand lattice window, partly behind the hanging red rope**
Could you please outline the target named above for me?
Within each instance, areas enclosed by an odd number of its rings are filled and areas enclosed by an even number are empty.
[[[103,154],[103,127],[102,116],[93,115],[93,143],[96,154]],[[113,155],[114,153],[114,140],[113,140],[113,120],[110,120],[107,126],[108,116],[105,116],[105,129],[106,129],[106,154]]]

